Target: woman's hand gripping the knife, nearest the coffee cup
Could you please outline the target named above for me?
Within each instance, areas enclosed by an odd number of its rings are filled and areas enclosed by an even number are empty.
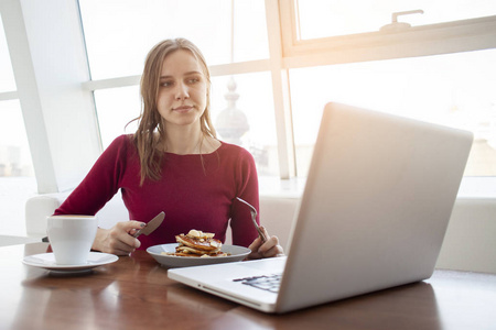
[[[116,255],[129,255],[140,248],[141,242],[132,235],[144,224],[144,222],[130,220],[117,222],[110,229],[98,228],[91,249]]]

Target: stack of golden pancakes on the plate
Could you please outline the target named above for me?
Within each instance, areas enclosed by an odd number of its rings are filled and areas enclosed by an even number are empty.
[[[222,252],[223,243],[214,239],[214,233],[203,232],[201,230],[192,229],[187,234],[175,235],[179,245],[175,252],[162,252],[165,255],[175,256],[227,256],[228,253]]]

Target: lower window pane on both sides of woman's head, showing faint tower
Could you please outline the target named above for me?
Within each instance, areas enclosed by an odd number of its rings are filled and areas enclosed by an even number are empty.
[[[277,176],[279,165],[270,90],[268,73],[213,77],[211,108],[219,138],[249,150],[260,175]],[[137,122],[126,125],[140,114],[139,86],[96,90],[95,101],[104,147],[120,134],[136,132]]]

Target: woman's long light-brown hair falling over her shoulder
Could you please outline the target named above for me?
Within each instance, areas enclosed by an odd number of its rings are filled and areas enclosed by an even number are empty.
[[[203,136],[216,138],[217,134],[211,120],[211,74],[205,62],[205,57],[198,47],[185,38],[164,40],[158,43],[147,55],[144,69],[141,76],[140,94],[142,108],[138,118],[139,127],[132,136],[133,143],[140,157],[140,185],[144,179],[158,180],[161,178],[163,152],[158,148],[159,142],[165,141],[165,128],[162,117],[158,110],[158,98],[160,87],[160,73],[166,56],[175,51],[185,50],[193,54],[203,69],[207,81],[206,107],[200,118],[200,127]]]

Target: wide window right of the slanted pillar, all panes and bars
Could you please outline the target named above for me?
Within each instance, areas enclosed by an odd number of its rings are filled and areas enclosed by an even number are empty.
[[[249,127],[237,143],[254,153],[261,175],[306,175],[332,100],[472,130],[465,175],[495,175],[494,1],[79,2],[104,146],[139,112],[145,53],[185,36],[211,66],[213,120],[225,141],[231,136],[218,118],[234,77],[235,112]],[[423,13],[398,16],[411,29],[381,31],[392,13],[417,9]],[[278,77],[285,72],[288,81]],[[290,106],[281,97],[288,94]]]

